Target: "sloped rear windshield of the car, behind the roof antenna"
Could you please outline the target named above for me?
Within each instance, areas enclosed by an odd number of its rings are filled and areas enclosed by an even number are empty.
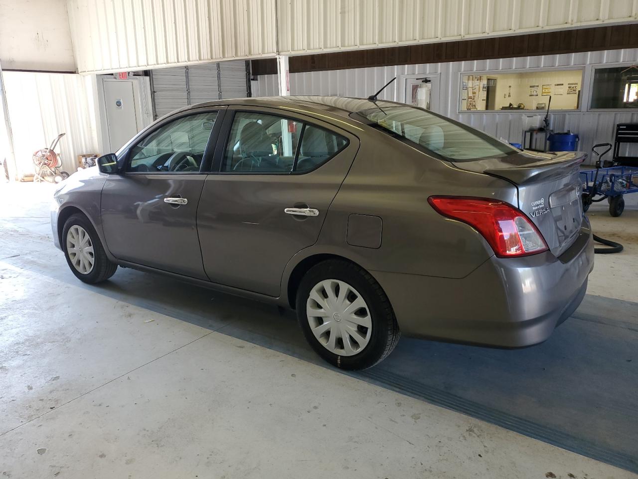
[[[377,107],[353,115],[443,160],[463,162],[519,153],[516,148],[479,130],[420,108]]]

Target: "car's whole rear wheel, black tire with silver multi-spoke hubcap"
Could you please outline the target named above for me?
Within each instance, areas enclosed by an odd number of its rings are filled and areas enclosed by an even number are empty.
[[[323,261],[306,273],[297,293],[297,317],[316,353],[341,369],[374,366],[401,336],[381,286],[346,261]]]

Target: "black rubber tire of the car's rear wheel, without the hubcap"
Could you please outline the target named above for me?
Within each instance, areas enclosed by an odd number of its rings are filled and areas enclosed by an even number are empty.
[[[306,314],[309,294],[316,284],[326,279],[346,282],[366,301],[372,331],[367,345],[353,356],[341,356],[326,349],[309,324]],[[374,366],[392,352],[401,337],[394,311],[382,287],[366,270],[347,261],[327,260],[313,266],[299,284],[296,307],[299,324],[310,346],[324,360],[341,369],[360,370]]]

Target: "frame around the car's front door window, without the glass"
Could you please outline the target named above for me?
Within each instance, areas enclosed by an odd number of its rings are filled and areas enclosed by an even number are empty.
[[[211,172],[211,167],[214,163],[214,152],[216,151],[216,146],[219,142],[220,133],[222,130],[222,126],[224,123],[225,112],[227,106],[219,105],[215,107],[200,107],[195,109],[189,109],[183,112],[179,112],[166,118],[163,118],[161,121],[156,123],[152,123],[148,128],[142,130],[142,132],[138,133],[133,139],[131,139],[126,146],[124,146],[124,151],[122,151],[121,155],[118,156],[118,160],[120,162],[119,172],[125,175],[140,175],[140,174],[179,174],[179,175],[188,175],[188,174],[207,174]],[[208,137],[208,141],[206,143],[206,148],[204,149],[204,155],[202,155],[202,163],[200,164],[200,169],[198,171],[127,171],[130,163],[132,161],[131,153],[133,149],[140,144],[140,142],[147,139],[153,133],[157,132],[159,129],[164,126],[173,123],[182,118],[188,118],[189,116],[201,115],[206,113],[215,112],[217,117],[215,118],[215,123],[212,126],[211,134]]]

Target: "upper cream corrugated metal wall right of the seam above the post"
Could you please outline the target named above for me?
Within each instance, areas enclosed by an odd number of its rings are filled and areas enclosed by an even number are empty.
[[[280,52],[439,42],[638,19],[627,0],[305,0],[278,7]]]

